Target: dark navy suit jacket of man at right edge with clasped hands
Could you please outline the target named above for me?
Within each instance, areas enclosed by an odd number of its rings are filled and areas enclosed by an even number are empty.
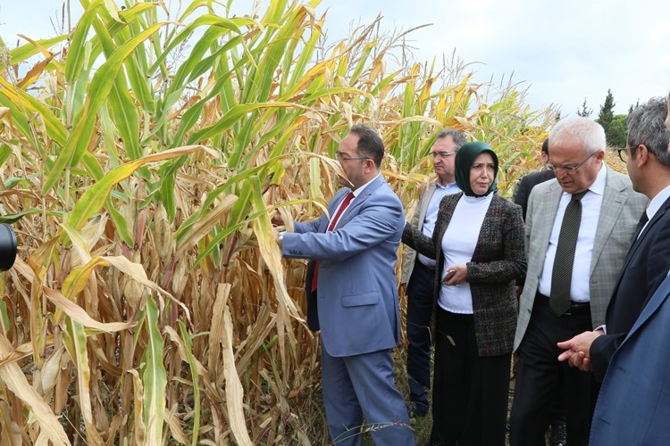
[[[670,199],[649,220],[624,260],[619,280],[607,306],[607,335],[590,346],[590,360],[596,379],[602,381],[612,355],[624,341],[635,319],[670,268]]]

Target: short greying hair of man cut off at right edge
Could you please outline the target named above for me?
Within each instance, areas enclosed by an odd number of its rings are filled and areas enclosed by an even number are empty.
[[[652,97],[628,115],[626,141],[632,147],[631,153],[635,153],[639,145],[646,145],[658,162],[670,167],[670,153],[667,152],[670,131],[666,128],[666,117],[667,100],[662,97]]]

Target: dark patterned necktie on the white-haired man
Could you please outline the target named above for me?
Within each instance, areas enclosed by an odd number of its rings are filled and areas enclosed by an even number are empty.
[[[570,285],[573,281],[574,252],[577,248],[577,235],[582,223],[582,196],[588,189],[573,194],[567,203],[565,215],[558,235],[556,257],[551,273],[551,295],[549,307],[557,316],[561,316],[570,308]]]

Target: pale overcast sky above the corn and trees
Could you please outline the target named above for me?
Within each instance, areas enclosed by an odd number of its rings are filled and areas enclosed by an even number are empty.
[[[10,47],[18,33],[53,37],[52,21],[60,20],[62,4],[0,0],[0,36]],[[244,12],[253,2],[233,4]],[[77,0],[71,5],[74,20],[81,7]],[[608,88],[619,113],[670,90],[670,0],[322,0],[317,12],[327,12],[331,39],[380,13],[382,28],[389,30],[431,24],[408,37],[416,59],[441,60],[456,51],[473,62],[477,81],[512,76],[528,88],[532,108],[554,103],[563,116],[575,114],[584,99],[597,116]]]

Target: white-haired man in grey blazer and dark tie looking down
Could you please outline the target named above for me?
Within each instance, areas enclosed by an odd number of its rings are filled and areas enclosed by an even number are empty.
[[[549,134],[556,179],[533,187],[526,213],[528,271],[515,351],[510,419],[514,446],[545,445],[552,401],[563,386],[567,444],[588,442],[595,384],[558,361],[557,343],[603,323],[616,277],[647,199],[609,169],[605,130],[595,121],[558,121]]]

